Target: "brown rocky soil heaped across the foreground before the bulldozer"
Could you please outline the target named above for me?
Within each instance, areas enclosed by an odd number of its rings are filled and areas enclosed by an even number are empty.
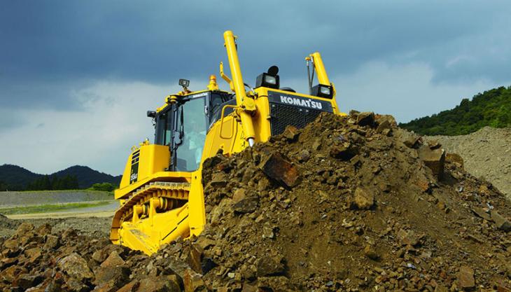
[[[445,154],[391,116],[320,116],[204,162],[199,237],[148,257],[98,235],[23,224],[0,242],[0,286],[508,291],[511,203]]]

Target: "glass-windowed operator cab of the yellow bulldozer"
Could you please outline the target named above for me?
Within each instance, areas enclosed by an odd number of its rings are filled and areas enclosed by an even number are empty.
[[[233,96],[220,90],[188,91],[158,112],[148,111],[155,121],[155,143],[169,146],[169,171],[193,172],[200,167],[204,141],[209,127],[218,120],[224,104]]]

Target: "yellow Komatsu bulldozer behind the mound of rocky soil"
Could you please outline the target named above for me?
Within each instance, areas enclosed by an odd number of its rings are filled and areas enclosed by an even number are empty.
[[[120,207],[113,216],[110,239],[151,255],[162,244],[200,235],[206,224],[202,162],[216,155],[232,155],[281,134],[286,126],[302,128],[320,113],[339,113],[335,87],[319,53],[305,58],[309,92],[281,88],[279,69],[272,66],[244,83],[237,55],[237,37],[223,34],[230,74],[220,75],[229,90],[218,88],[210,76],[207,89],[190,91],[181,79],[181,92],[165,97],[165,104],[148,111],[155,139],[147,139],[127,159],[120,188]],[[314,74],[318,84],[313,86]]]

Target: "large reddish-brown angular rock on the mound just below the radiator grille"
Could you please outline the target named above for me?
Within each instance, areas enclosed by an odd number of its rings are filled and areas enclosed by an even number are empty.
[[[286,188],[293,188],[300,182],[298,169],[281,153],[274,152],[266,156],[259,168],[270,179]]]

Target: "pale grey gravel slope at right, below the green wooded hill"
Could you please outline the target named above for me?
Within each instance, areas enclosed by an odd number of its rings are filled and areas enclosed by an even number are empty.
[[[461,155],[470,174],[490,181],[511,199],[511,129],[484,127],[468,135],[426,139]]]

